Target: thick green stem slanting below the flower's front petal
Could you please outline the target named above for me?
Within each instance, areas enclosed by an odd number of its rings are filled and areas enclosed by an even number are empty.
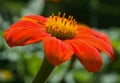
[[[45,83],[54,68],[55,68],[55,66],[51,65],[44,57],[41,67],[39,68],[32,83]]]

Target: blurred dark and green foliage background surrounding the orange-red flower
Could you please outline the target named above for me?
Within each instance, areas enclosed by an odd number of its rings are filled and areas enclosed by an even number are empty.
[[[10,48],[2,33],[20,17],[66,13],[110,38],[115,60],[101,53],[99,72],[87,72],[78,60],[56,67],[47,83],[120,83],[120,0],[0,0],[0,83],[30,83],[43,59],[42,43]]]

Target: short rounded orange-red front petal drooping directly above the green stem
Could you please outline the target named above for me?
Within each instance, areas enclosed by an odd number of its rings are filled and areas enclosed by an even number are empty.
[[[46,37],[43,41],[46,59],[52,65],[59,65],[68,60],[73,51],[61,40],[55,37]]]

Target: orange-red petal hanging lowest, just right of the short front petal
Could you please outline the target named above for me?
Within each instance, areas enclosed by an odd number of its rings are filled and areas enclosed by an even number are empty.
[[[101,68],[102,58],[96,48],[81,40],[67,41],[87,71],[96,72]]]

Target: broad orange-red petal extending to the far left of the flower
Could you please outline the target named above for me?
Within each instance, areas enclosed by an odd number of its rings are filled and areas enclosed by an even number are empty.
[[[3,35],[10,47],[40,42],[48,36],[39,25],[25,20],[14,23]]]

